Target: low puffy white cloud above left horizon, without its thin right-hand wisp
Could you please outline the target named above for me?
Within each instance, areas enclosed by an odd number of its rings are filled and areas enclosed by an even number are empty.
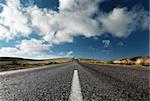
[[[2,47],[0,48],[0,56],[11,57],[40,57],[47,55],[51,45],[45,44],[42,40],[31,39],[22,40],[15,47]]]

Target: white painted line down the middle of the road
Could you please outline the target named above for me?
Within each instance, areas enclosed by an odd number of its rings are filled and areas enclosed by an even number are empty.
[[[74,70],[69,101],[83,101],[78,70]]]

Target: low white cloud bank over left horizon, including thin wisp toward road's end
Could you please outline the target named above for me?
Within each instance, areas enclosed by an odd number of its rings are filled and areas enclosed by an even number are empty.
[[[72,57],[73,51],[61,53],[58,55],[50,54],[51,45],[43,43],[42,40],[31,39],[22,40],[15,47],[2,47],[0,48],[0,57],[22,57],[32,59],[49,59]]]

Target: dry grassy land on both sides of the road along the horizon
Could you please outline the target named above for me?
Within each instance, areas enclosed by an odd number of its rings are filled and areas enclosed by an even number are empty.
[[[24,68],[34,68],[38,66],[61,64],[66,62],[72,62],[78,60],[83,63],[90,64],[104,64],[104,65],[115,65],[115,66],[130,66],[130,67],[148,67],[150,66],[149,56],[139,56],[133,58],[124,58],[111,61],[103,61],[96,59],[86,59],[86,58],[56,58],[56,59],[44,59],[44,60],[33,60],[33,59],[23,59],[23,58],[11,58],[11,57],[1,57],[0,58],[0,71],[9,71]]]

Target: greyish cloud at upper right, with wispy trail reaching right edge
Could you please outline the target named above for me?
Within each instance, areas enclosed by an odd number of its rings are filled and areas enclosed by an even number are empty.
[[[148,29],[148,19],[148,12],[127,11],[127,8],[114,8],[109,14],[99,18],[106,32],[120,38],[129,36],[137,27]]]

